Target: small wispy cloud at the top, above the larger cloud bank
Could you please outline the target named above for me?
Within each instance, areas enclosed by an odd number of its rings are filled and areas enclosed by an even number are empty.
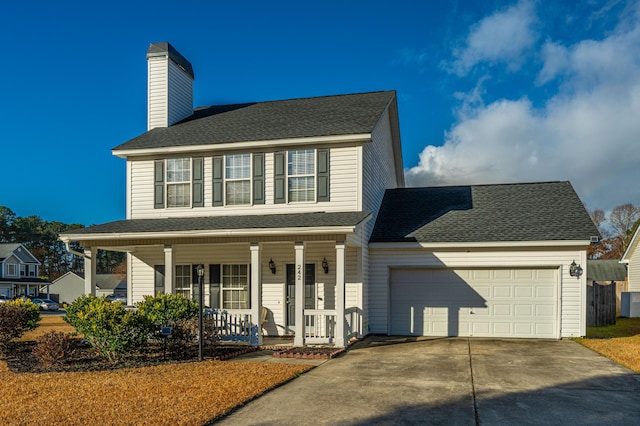
[[[535,8],[528,0],[482,19],[471,27],[463,47],[454,50],[455,59],[445,68],[458,75],[466,75],[481,62],[506,63],[518,69],[523,52],[538,38],[535,22]]]

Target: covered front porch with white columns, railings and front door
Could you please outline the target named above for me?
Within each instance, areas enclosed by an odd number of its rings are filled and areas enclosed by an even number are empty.
[[[128,304],[158,293],[198,301],[202,288],[206,321],[222,340],[262,345],[265,336],[292,336],[295,346],[344,347],[365,326],[360,224],[367,215],[354,217],[346,226],[272,232],[155,232],[135,238],[87,232],[62,239],[84,247],[87,294],[95,294],[97,250],[125,251]]]

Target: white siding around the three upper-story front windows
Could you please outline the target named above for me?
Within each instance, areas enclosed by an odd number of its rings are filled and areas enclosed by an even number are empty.
[[[129,159],[131,169],[131,218],[153,217],[193,217],[193,216],[232,216],[250,214],[275,214],[275,213],[304,213],[317,211],[357,211],[357,161],[358,147],[335,146],[331,148],[330,182],[331,201],[311,203],[273,203],[273,169],[274,151],[265,153],[265,195],[264,205],[248,206],[222,206],[212,207],[212,174],[213,152],[202,154],[204,157],[205,207],[198,208],[170,208],[154,209],[153,203],[153,172],[154,159]],[[223,155],[231,152],[215,152],[215,155]],[[179,155],[177,155],[179,156]],[[200,156],[200,155],[198,155]]]

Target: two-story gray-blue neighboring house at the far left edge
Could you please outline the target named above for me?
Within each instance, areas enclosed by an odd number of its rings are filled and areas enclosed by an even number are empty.
[[[47,280],[38,278],[40,262],[22,244],[0,243],[0,295],[9,298],[47,293]]]

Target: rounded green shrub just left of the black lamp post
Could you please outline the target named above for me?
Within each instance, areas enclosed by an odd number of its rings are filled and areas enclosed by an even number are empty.
[[[198,304],[181,294],[160,294],[145,296],[139,302],[138,315],[144,318],[151,335],[160,339],[162,327],[171,327],[172,334],[168,337],[169,348],[172,351],[183,350],[198,336]]]

